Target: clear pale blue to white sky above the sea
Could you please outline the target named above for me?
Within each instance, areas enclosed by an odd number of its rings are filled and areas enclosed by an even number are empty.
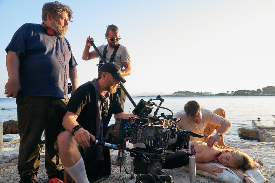
[[[5,48],[21,25],[42,22],[46,2],[0,0],[0,98],[8,79]],[[97,77],[99,59],[82,60],[86,38],[102,45],[108,24],[118,26],[119,43],[130,53],[130,95],[226,93],[275,85],[273,0],[60,2],[73,11],[65,37],[78,63],[79,85]]]

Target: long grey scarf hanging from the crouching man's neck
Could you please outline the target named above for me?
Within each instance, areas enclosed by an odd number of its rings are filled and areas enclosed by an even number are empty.
[[[96,101],[96,104],[97,104],[97,119],[96,119],[96,121],[97,121],[97,132],[96,132],[96,135],[95,135],[95,139],[99,140],[99,141],[102,141],[103,140],[103,129],[102,129],[102,115],[103,114],[102,114],[102,106],[101,106],[100,98],[103,101],[107,102],[108,101],[107,98],[110,98],[110,93],[109,92],[107,93],[107,97],[102,95],[102,93],[99,90],[96,78],[93,79],[92,81],[88,81],[87,83],[91,83],[95,88],[95,101]],[[104,160],[103,146],[96,145],[96,148],[97,148],[97,159],[96,159],[96,161]]]

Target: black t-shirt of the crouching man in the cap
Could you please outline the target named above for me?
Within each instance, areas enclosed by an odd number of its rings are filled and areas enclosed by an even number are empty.
[[[103,100],[101,99],[102,113],[105,109],[103,107]],[[71,96],[66,108],[66,111],[73,112],[78,115],[76,121],[90,134],[96,134],[97,130],[97,105],[95,97],[95,88],[91,83],[85,83],[80,85]],[[107,129],[110,119],[113,114],[123,112],[120,104],[120,98],[117,93],[110,94],[110,105],[108,109],[108,115],[102,114],[102,129],[103,134]]]

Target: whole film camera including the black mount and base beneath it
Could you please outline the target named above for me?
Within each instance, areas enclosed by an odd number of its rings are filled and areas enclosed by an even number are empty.
[[[153,102],[154,100],[160,100],[160,104],[156,105]],[[151,177],[142,178],[140,174],[144,174],[144,176],[148,174],[157,175],[163,181],[170,179],[168,176],[164,176],[162,171],[161,163],[165,162],[165,154],[177,154],[177,150],[188,149],[190,136],[202,137],[191,131],[178,129],[176,123],[180,121],[180,118],[174,118],[172,111],[161,107],[162,102],[164,102],[164,99],[160,96],[147,102],[141,99],[132,112],[137,117],[129,119],[117,118],[115,122],[113,136],[124,140],[124,142],[129,140],[130,143],[141,147],[125,148],[125,150],[132,152],[130,156],[134,158],[134,168],[131,173],[135,174],[135,177],[143,180],[143,182],[146,182],[146,180],[151,182]],[[154,107],[156,107],[156,111],[154,116],[150,117]],[[172,114],[165,116],[164,113],[161,113],[160,116],[157,116],[160,108],[166,109]],[[137,180],[137,182],[139,181]]]

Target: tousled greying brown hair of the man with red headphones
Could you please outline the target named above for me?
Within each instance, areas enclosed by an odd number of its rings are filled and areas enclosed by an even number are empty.
[[[58,1],[48,2],[43,5],[42,8],[42,20],[47,20],[47,14],[50,13],[52,17],[56,17],[56,15],[62,15],[64,13],[68,13],[69,21],[72,21],[72,10],[67,5],[59,3]]]

